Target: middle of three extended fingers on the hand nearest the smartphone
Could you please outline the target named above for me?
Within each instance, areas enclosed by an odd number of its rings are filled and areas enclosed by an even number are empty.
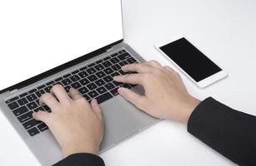
[[[143,84],[143,76],[142,74],[130,74],[130,75],[123,75],[123,76],[114,76],[113,77],[114,81],[118,82],[124,82],[128,84],[138,84],[142,85]]]

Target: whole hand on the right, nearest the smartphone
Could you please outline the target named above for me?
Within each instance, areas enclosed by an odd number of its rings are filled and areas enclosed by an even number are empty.
[[[149,115],[186,124],[200,103],[188,94],[177,72],[168,66],[161,66],[157,61],[123,66],[122,70],[138,74],[115,76],[114,81],[142,85],[145,95],[125,88],[119,88],[118,93]]]

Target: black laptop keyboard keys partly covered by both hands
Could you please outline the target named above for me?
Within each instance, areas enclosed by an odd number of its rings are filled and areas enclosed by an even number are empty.
[[[39,98],[44,93],[49,93],[53,85],[63,85],[67,92],[73,87],[89,102],[95,98],[100,104],[118,95],[118,87],[132,88],[134,86],[113,81],[113,76],[127,74],[121,71],[121,66],[133,63],[138,63],[138,61],[127,51],[121,50],[15,96],[7,100],[6,104],[28,134],[34,136],[48,129],[42,121],[33,119],[33,112],[38,112],[38,110],[50,112],[47,105],[39,105]]]

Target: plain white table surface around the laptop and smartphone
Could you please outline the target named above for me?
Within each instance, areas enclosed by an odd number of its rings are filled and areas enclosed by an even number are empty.
[[[182,76],[188,91],[199,99],[213,96],[256,115],[255,1],[127,0],[123,5],[125,37],[146,60],[172,66],[154,50],[153,43],[186,36],[228,72],[228,78],[205,89]],[[0,131],[6,133],[0,137],[0,165],[39,165],[3,115],[0,122]],[[188,134],[186,126],[168,120],[101,156],[109,166],[233,165]]]

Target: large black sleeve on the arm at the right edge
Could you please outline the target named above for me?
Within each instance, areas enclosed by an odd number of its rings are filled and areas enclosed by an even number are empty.
[[[188,120],[188,132],[239,165],[256,165],[256,117],[213,98],[201,102]]]

